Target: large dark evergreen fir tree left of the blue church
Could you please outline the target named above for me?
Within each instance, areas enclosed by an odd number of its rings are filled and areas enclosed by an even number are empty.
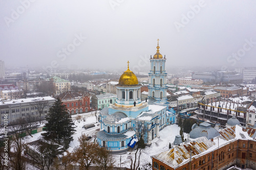
[[[67,108],[59,98],[49,109],[46,120],[46,133],[43,133],[42,136],[46,140],[54,140],[59,144],[63,144],[64,148],[68,148],[69,143],[73,140],[74,123],[72,122],[71,115],[67,112]]]

